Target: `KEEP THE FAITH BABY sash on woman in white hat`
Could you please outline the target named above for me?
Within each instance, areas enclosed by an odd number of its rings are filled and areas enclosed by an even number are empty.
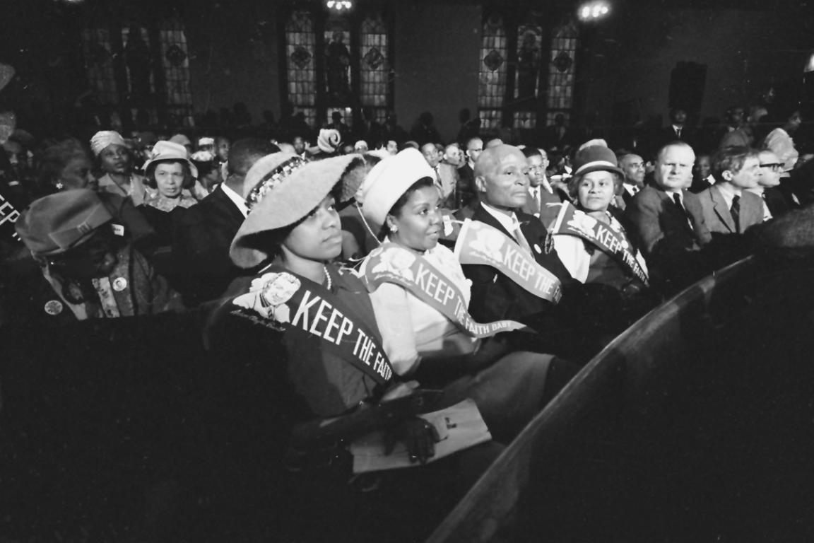
[[[365,283],[373,292],[383,282],[405,287],[410,293],[435,309],[475,338],[485,338],[499,332],[525,329],[516,321],[475,322],[466,309],[466,299],[439,269],[423,256],[409,252],[395,243],[383,243],[373,252],[365,265]]]

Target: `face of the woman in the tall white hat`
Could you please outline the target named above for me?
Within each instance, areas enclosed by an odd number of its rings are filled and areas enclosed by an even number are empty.
[[[398,216],[387,216],[387,225],[392,232],[390,239],[402,247],[419,252],[435,247],[441,231],[439,200],[435,186],[422,186],[414,190]]]

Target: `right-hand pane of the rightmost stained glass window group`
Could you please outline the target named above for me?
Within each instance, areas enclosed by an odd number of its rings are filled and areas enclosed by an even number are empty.
[[[574,104],[576,39],[573,23],[554,28],[552,33],[548,67],[549,120],[557,113],[567,113]]]

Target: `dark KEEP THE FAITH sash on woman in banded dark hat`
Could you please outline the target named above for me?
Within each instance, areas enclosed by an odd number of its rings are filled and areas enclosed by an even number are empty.
[[[592,243],[623,265],[641,282],[649,284],[647,272],[631,251],[632,244],[628,236],[615,220],[611,219],[610,225],[606,225],[565,202],[554,221],[551,233],[573,235]]]

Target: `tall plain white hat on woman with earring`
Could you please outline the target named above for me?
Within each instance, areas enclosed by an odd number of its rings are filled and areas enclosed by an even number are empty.
[[[435,170],[420,151],[408,148],[376,164],[359,188],[361,212],[379,230],[387,213],[410,186],[424,177],[435,180]]]

